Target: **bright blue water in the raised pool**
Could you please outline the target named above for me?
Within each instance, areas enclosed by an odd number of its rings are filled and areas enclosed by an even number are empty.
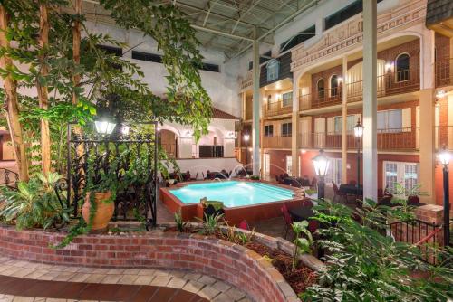
[[[228,208],[293,198],[292,190],[271,184],[238,181],[188,184],[169,192],[183,203],[199,203],[201,198],[207,197],[210,201],[223,202]]]

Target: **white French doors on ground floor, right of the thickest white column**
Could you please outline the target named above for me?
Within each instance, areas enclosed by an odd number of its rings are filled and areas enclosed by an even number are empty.
[[[419,164],[404,162],[383,163],[383,184],[390,191],[394,190],[396,184],[401,184],[406,192],[419,184]]]

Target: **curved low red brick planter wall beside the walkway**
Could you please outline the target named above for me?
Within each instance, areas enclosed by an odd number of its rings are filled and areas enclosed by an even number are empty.
[[[50,249],[63,233],[16,231],[0,226],[0,254],[18,260],[100,268],[185,269],[224,280],[255,301],[297,301],[283,276],[253,250],[198,234],[151,231],[140,234],[84,235],[62,250]],[[287,241],[257,234],[256,240],[291,249]],[[266,244],[266,245],[267,245]],[[305,255],[305,265],[319,260]]]

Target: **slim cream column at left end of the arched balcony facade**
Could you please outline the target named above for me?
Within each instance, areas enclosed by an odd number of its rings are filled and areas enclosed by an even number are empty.
[[[292,114],[292,137],[291,137],[291,157],[292,157],[292,171],[294,177],[300,177],[300,164],[299,164],[299,144],[298,137],[300,132],[299,127],[299,78],[293,78],[293,114]]]

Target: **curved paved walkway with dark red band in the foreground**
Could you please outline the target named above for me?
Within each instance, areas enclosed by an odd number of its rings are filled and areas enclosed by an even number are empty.
[[[241,290],[197,273],[53,266],[0,257],[0,302],[82,300],[250,301]]]

